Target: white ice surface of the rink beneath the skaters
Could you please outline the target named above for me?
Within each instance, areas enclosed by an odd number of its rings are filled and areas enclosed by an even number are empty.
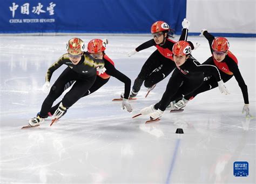
[[[40,111],[47,96],[41,90],[46,70],[66,53],[65,44],[72,37],[0,37],[0,183],[255,183],[256,121],[241,113],[244,100],[234,77],[226,83],[230,95],[215,88],[199,94],[184,112],[166,111],[152,124],[145,124],[149,116],[131,117],[160,100],[171,75],[147,98],[143,86],[138,100],[130,101],[132,113],[122,110],[122,102],[111,101],[124,91],[123,83],[111,77],[51,127],[48,118],[39,127],[21,130]],[[77,37],[86,45],[93,38],[109,39],[106,54],[132,84],[156,50],[151,47],[127,57],[151,36]],[[201,44],[192,52],[200,63],[211,56],[204,37],[188,40]],[[255,116],[256,39],[228,40]],[[51,84],[65,67],[53,73]],[[177,128],[184,134],[176,134]],[[233,175],[235,161],[248,162],[247,177]]]

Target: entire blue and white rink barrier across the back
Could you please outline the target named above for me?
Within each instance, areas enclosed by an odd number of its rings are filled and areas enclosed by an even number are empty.
[[[72,0],[2,1],[0,35],[139,35],[150,33],[152,23],[159,20],[167,22],[180,35],[181,22],[186,17],[191,22],[189,35],[198,36],[200,29],[206,28],[216,36],[256,37],[256,30],[250,26],[255,25],[254,19],[243,18],[254,12],[248,10],[253,6],[240,9],[247,13],[232,13],[238,5],[247,6],[239,0],[235,4],[221,1],[224,6],[221,7],[228,6],[228,11],[220,11],[215,0],[161,0],[160,3],[159,0],[76,0],[73,3]],[[220,16],[212,17],[209,24],[208,16],[201,15],[212,11]],[[233,21],[228,22],[228,28],[227,21]]]

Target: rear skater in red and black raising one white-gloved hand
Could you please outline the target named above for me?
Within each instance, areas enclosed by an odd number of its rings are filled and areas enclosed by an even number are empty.
[[[183,30],[179,40],[186,40],[190,22],[184,19],[182,25]],[[172,47],[176,42],[169,39],[171,36],[169,33],[172,34],[169,25],[163,21],[157,21],[151,26],[151,33],[153,39],[139,45],[135,50],[128,53],[130,57],[151,46],[157,47],[157,50],[146,60],[138,77],[135,79],[130,97],[137,96],[143,82],[145,87],[152,90],[159,81],[165,79],[176,67],[172,57]]]

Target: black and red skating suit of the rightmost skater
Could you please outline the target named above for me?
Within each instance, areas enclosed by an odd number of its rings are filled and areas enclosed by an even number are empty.
[[[210,45],[211,53],[213,54],[211,45],[214,40],[214,36],[212,36],[207,31],[204,31],[204,36],[207,38]],[[234,76],[238,82],[238,85],[241,88],[242,96],[244,97],[244,103],[249,104],[247,86],[239,71],[238,60],[231,51],[227,51],[227,55],[222,62],[217,62],[217,60],[215,60],[212,55],[212,57],[208,58],[203,64],[217,66],[219,69],[221,78],[223,79],[224,82],[230,80]],[[211,74],[208,74],[206,76],[208,76],[209,79],[204,81],[203,85],[201,85],[190,96],[185,97],[185,99],[190,99],[191,97],[195,97],[197,94],[201,92],[211,90],[212,88],[218,86],[216,80],[211,77]]]

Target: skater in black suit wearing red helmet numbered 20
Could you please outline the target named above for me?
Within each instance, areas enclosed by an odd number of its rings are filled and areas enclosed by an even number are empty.
[[[179,41],[174,44],[172,52],[176,69],[173,71],[161,100],[155,105],[143,108],[140,111],[142,115],[150,114],[151,120],[160,118],[171,101],[193,92],[203,83],[205,72],[211,73],[215,77],[221,93],[228,94],[217,67],[200,65],[192,57],[192,49],[193,45],[185,41]]]

